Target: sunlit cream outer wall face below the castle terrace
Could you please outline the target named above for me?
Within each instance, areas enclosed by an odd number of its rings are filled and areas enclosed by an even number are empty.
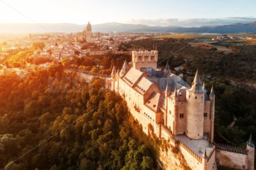
[[[199,162],[188,150],[182,145],[179,144],[179,150],[182,153],[186,162],[188,162],[189,167],[193,170],[203,169],[203,165]]]

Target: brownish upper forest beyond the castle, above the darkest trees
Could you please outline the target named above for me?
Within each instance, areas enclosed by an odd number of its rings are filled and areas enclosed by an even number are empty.
[[[256,81],[256,48],[253,45],[232,47],[236,52],[225,54],[215,48],[191,47],[191,41],[184,38],[145,39],[122,43],[119,49],[152,50],[155,46],[159,51],[159,66],[164,66],[168,61],[172,69],[184,65],[189,72],[199,68],[205,74]]]

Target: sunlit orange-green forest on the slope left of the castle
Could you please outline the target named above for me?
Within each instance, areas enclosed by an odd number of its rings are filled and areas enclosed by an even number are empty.
[[[154,142],[103,84],[62,65],[1,77],[0,168],[156,169]]]

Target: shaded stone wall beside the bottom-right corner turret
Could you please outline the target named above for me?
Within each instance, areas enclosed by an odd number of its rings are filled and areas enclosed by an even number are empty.
[[[236,169],[242,169],[242,166],[246,165],[247,155],[242,153],[234,153],[231,151],[216,150],[216,160],[218,160],[221,166],[234,167]]]

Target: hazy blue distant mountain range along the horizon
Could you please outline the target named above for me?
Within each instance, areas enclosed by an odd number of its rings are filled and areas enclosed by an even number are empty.
[[[77,24],[0,24],[0,33],[74,33],[82,31],[84,25]],[[256,33],[256,22],[249,24],[230,24],[223,26],[177,27],[147,26],[143,24],[122,24],[108,22],[92,26],[93,32],[131,32],[131,33]]]

